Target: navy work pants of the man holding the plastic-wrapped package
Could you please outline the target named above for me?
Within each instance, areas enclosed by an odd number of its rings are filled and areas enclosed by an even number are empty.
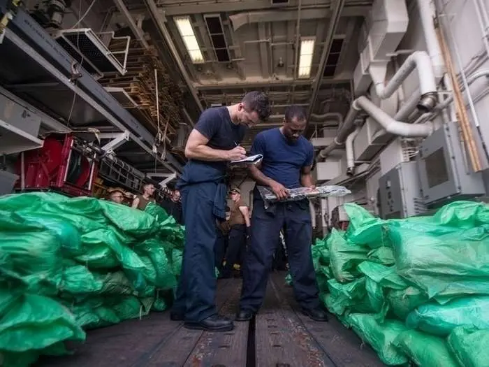
[[[257,312],[263,302],[268,273],[280,230],[284,228],[295,299],[302,308],[319,306],[319,289],[312,265],[312,223],[307,201],[276,203],[265,210],[263,201],[254,201],[251,241],[243,267],[240,301],[242,310]]]

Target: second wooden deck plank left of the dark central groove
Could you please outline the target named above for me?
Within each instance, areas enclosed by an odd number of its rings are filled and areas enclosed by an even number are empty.
[[[230,297],[232,293],[231,291],[235,285],[231,283],[231,280],[219,280],[217,284],[216,305],[219,310]],[[180,327],[171,338],[168,338],[165,343],[161,343],[161,345],[149,353],[145,359],[140,359],[139,364],[134,364],[132,367],[183,366],[196,348],[198,340],[200,340],[200,337],[204,332],[200,330],[185,329],[183,327],[183,322],[180,322],[180,325],[182,327]]]

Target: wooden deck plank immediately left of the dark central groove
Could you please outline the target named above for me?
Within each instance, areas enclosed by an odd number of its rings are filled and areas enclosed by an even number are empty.
[[[233,284],[230,298],[221,308],[221,314],[234,318],[238,309],[241,282],[230,280]],[[185,367],[245,367],[247,360],[247,341],[249,322],[235,322],[235,329],[226,333],[203,333]]]

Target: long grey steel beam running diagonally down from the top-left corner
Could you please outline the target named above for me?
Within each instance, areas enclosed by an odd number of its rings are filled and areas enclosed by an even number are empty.
[[[8,0],[0,0],[0,12],[5,13]],[[76,85],[69,81],[71,75],[71,64],[73,57],[59,45],[32,17],[24,10],[19,9],[15,17],[8,23],[10,41],[20,47],[35,62],[43,66],[55,78],[62,82],[66,87],[80,95],[87,103],[102,113],[112,124],[121,131],[129,129],[135,136],[140,137],[148,145],[154,145],[154,136],[136,120],[129,111],[125,110],[121,104],[111,96],[105,89],[96,82],[92,75],[85,69],[80,68],[81,77],[78,78]],[[26,40],[24,41],[20,36]],[[15,41],[13,41],[15,40]],[[36,48],[36,49],[34,49]],[[41,50],[44,57],[38,51]],[[54,64],[56,66],[54,66]],[[171,154],[166,154],[170,164],[181,171],[182,166]]]

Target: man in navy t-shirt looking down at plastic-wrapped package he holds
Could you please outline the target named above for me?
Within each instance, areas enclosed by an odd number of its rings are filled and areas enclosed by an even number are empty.
[[[302,136],[307,125],[305,110],[291,106],[285,112],[284,126],[258,134],[251,154],[262,154],[261,166],[251,166],[257,185],[268,186],[279,199],[288,189],[314,187],[311,168],[312,144]],[[312,265],[312,222],[309,201],[283,201],[265,209],[258,189],[254,189],[251,214],[251,242],[243,267],[243,285],[238,321],[247,321],[258,312],[272,266],[272,257],[284,229],[295,298],[302,311],[316,321],[327,321],[320,307],[319,289]]]

